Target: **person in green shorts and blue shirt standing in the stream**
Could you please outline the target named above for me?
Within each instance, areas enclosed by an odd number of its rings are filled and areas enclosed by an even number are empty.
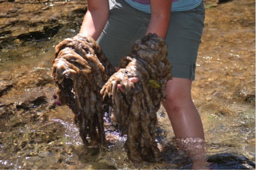
[[[136,40],[148,33],[165,38],[173,79],[167,83],[162,104],[177,139],[204,140],[201,118],[191,99],[203,22],[202,0],[88,0],[80,33],[97,40],[116,70]]]

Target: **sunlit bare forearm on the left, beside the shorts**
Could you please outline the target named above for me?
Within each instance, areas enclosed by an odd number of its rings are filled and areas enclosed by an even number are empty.
[[[88,0],[87,12],[80,33],[88,34],[97,40],[109,19],[108,0]]]

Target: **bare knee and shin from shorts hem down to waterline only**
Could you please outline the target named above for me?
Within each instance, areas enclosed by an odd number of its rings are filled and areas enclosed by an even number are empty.
[[[163,102],[176,138],[204,139],[203,125],[191,99],[192,81],[173,78],[167,82],[167,98]]]

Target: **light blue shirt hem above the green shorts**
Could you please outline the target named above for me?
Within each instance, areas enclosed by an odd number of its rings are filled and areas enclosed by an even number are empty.
[[[133,0],[125,0],[129,5],[136,8],[139,11],[146,13],[151,13],[150,5],[141,4]],[[202,3],[202,0],[177,0],[172,2],[171,11],[186,11],[192,10],[193,8],[199,6]]]

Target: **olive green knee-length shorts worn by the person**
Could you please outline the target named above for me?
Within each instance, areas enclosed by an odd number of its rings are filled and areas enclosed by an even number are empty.
[[[132,44],[145,35],[151,14],[131,7],[124,0],[109,0],[109,3],[109,20],[97,42],[111,64],[118,67],[120,59],[130,53]],[[165,41],[173,77],[195,80],[203,22],[203,1],[192,10],[171,12]]]

